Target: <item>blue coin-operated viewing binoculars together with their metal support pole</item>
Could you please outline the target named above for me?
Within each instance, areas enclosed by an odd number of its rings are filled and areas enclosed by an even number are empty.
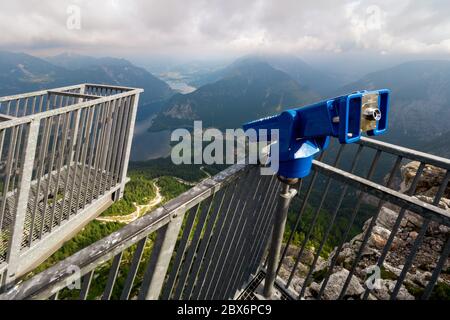
[[[313,157],[327,148],[330,137],[349,144],[357,142],[362,133],[376,136],[386,132],[389,95],[386,89],[359,91],[244,124],[244,130],[256,130],[258,141],[263,139],[259,129],[267,130],[264,137],[271,142],[270,130],[279,130],[275,143],[279,147],[277,175],[282,182],[282,191],[272,231],[264,297],[273,297],[287,213],[290,201],[297,193],[290,186],[309,175]]]

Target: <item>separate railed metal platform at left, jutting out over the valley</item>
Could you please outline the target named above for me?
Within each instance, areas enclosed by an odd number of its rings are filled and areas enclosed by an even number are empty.
[[[122,196],[140,92],[82,84],[0,98],[0,285]]]

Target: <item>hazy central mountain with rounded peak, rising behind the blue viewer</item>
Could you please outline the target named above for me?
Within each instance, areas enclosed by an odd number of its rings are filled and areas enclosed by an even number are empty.
[[[319,95],[286,73],[260,61],[239,61],[220,80],[186,95],[175,95],[157,115],[151,130],[192,125],[236,128],[242,123],[301,106]]]

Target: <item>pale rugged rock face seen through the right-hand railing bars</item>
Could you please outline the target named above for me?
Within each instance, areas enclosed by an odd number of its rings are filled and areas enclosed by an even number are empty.
[[[411,162],[401,168],[402,183],[400,191],[405,192],[409,189],[418,167],[419,163]],[[434,196],[437,193],[444,175],[445,170],[426,165],[414,197],[424,202],[433,203]],[[445,190],[439,206],[450,212],[450,187],[447,187]],[[349,282],[344,299],[362,298],[368,285],[371,288],[371,290],[369,290],[370,294],[368,295],[368,299],[390,299],[397,279],[406,263],[406,258],[410,254],[415,240],[419,237],[420,229],[424,223],[422,217],[410,211],[405,211],[403,219],[397,221],[400,212],[401,209],[392,204],[386,204],[381,208],[370,236],[368,237],[367,245],[361,254],[361,259],[356,266],[354,276]],[[348,243],[343,245],[338,253],[335,267],[329,276],[321,299],[334,300],[339,297],[343,284],[349,276],[349,270],[360,249],[360,245],[366,233],[369,231],[368,228],[372,222],[371,220],[372,219],[366,221],[362,228],[362,233],[356,235]],[[369,280],[374,275],[374,267],[388,243],[391,232],[396,224],[399,224],[399,228],[392,239],[392,245],[387,252],[382,268],[377,269],[379,276],[373,278],[376,281],[370,282]],[[413,264],[408,270],[402,286],[398,290],[398,300],[412,300],[421,297],[431,279],[432,272],[441,257],[441,252],[449,237],[449,227],[439,225],[436,222],[431,222],[429,224],[423,238],[423,243],[417,251]],[[329,272],[331,261],[336,255],[336,250],[337,248],[334,249],[327,260],[322,260],[316,265],[315,274],[317,275],[320,273],[322,274],[322,277],[318,278],[313,276],[314,279],[309,281],[308,288],[305,291],[306,299],[314,299],[314,297],[318,295],[324,281],[323,274]],[[312,253],[308,251],[305,259],[301,259],[300,268],[297,269],[298,271],[293,278],[293,290],[297,292],[301,290],[305,275],[309,271],[311,259],[308,259],[307,256],[310,255],[312,255]],[[287,278],[289,276],[288,270],[292,270],[292,266],[292,262],[285,262],[282,267],[282,270],[284,269],[283,277]],[[367,281],[367,283],[365,283],[365,281]],[[435,298],[450,299],[449,257],[447,257],[447,260],[444,263],[436,286],[439,287],[440,295],[435,296]]]

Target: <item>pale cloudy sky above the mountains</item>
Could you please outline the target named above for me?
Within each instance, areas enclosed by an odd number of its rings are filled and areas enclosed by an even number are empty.
[[[448,0],[0,0],[0,49],[450,54]]]

